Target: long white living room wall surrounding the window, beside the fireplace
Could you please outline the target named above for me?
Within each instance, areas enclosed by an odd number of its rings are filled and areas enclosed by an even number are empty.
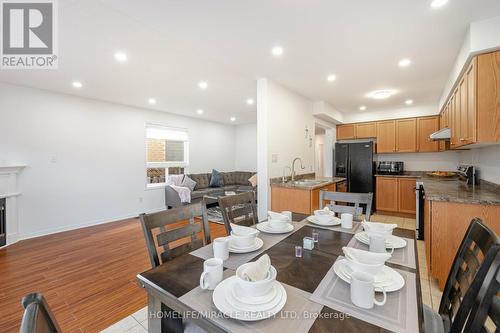
[[[20,236],[163,208],[163,190],[146,190],[148,122],[188,129],[190,172],[234,170],[233,126],[0,84],[0,164],[28,166]]]

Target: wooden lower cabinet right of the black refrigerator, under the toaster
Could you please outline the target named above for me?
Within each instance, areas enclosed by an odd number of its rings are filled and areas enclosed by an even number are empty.
[[[415,215],[416,178],[409,177],[376,177],[377,211]]]

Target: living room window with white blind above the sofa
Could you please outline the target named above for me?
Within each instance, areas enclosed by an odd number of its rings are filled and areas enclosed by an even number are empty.
[[[146,125],[147,185],[165,183],[168,175],[187,172],[189,140],[187,130]]]

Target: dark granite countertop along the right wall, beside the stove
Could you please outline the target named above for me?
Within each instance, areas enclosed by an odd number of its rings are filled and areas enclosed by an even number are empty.
[[[401,175],[376,177],[418,178],[424,184],[425,199],[465,204],[500,205],[500,185],[481,180],[479,185],[467,185],[457,177],[433,177],[428,171],[405,171]]]

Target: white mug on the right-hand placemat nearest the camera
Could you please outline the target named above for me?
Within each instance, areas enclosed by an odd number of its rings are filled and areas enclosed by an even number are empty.
[[[351,302],[363,309],[371,309],[373,305],[382,306],[387,301],[385,289],[377,287],[377,291],[384,294],[384,299],[379,302],[375,299],[374,277],[365,272],[351,274]]]

